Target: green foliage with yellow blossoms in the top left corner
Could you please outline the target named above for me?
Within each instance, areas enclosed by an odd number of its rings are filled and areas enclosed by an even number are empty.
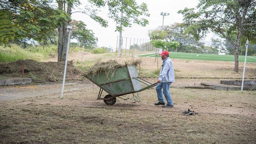
[[[50,3],[48,0],[1,1],[0,9],[11,17],[16,43],[24,38],[41,41],[54,30],[50,16],[54,15],[55,10],[49,7]]]

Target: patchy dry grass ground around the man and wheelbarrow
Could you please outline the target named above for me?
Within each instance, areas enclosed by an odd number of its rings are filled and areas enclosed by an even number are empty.
[[[87,55],[85,61],[113,59]],[[125,57],[117,59],[137,59]],[[155,58],[143,58],[142,76],[157,71]],[[256,91],[183,89],[200,81],[242,78],[233,62],[173,59],[176,82],[170,88],[174,108],[155,106],[155,89],[140,92],[141,102],[117,98],[107,106],[96,100],[91,82],[0,87],[1,143],[255,143]],[[159,60],[159,68],[162,61]],[[83,63],[77,63],[83,67]],[[255,64],[246,64],[246,79],[255,79]],[[152,76],[149,81],[156,81]],[[181,87],[180,87],[181,86]],[[103,93],[106,95],[107,93]],[[132,98],[131,95],[128,97]],[[197,115],[184,116],[193,110]]]

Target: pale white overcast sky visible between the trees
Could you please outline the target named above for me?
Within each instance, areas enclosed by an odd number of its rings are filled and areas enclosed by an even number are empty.
[[[80,8],[86,6],[88,4],[87,0],[80,0],[82,3]],[[131,38],[139,38],[149,40],[147,36],[147,32],[150,29],[155,29],[159,26],[162,26],[162,15],[161,12],[170,13],[169,16],[164,16],[164,25],[170,25],[175,22],[182,22],[182,15],[178,14],[178,10],[187,8],[193,8],[197,6],[197,0],[136,0],[137,4],[141,4],[145,2],[147,4],[147,8],[150,14],[150,17],[146,17],[149,21],[149,24],[146,27],[142,27],[136,24],[133,24],[131,28],[124,28],[122,32],[123,37],[131,37]],[[76,11],[73,10],[73,12]],[[97,22],[92,20],[89,16],[82,13],[73,13],[72,19],[77,21],[83,21],[86,23],[87,28],[91,29],[95,33],[95,37],[98,38],[98,46],[102,47],[113,47],[115,49],[117,44],[117,36],[119,36],[119,32],[115,32],[116,23],[107,17],[108,10],[102,9],[99,12],[99,16],[108,20],[108,27],[101,27]],[[210,40],[211,36],[208,36],[205,40]]]

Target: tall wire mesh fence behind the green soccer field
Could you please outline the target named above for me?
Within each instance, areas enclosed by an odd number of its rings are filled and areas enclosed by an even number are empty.
[[[227,41],[200,41],[193,39],[176,39],[180,47],[166,47],[165,49],[172,52],[199,53],[199,54],[222,54],[234,55],[234,46]],[[117,36],[116,55],[119,46],[119,37]],[[160,53],[162,49],[155,48],[148,39],[122,37],[121,55],[142,55],[145,53]],[[240,44],[239,55],[245,55],[245,44]],[[256,44],[250,44],[247,50],[248,56],[256,56]]]

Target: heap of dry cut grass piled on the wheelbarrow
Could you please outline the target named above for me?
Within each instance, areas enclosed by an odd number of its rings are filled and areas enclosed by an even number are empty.
[[[95,76],[95,75],[103,72],[107,75],[112,74],[111,76],[113,76],[114,72],[120,67],[125,67],[126,65],[139,67],[141,63],[142,63],[141,59],[125,61],[122,64],[118,63],[117,60],[109,60],[107,62],[97,61],[93,66],[91,66],[86,71],[85,75]]]

